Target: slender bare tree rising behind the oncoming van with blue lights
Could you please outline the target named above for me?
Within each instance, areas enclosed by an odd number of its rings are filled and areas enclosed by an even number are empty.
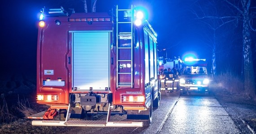
[[[205,38],[204,42],[206,42],[206,45],[212,50],[212,76],[216,75],[217,30],[221,29],[221,27],[227,24],[238,23],[237,17],[225,16],[225,14],[221,13],[224,12],[223,7],[221,7],[222,11],[220,12],[221,9],[219,9],[220,7],[217,6],[220,4],[220,2],[221,1],[218,0],[207,0],[207,2],[205,2],[205,0],[197,0],[194,3],[197,10],[192,10],[192,13],[195,15],[195,18],[199,20],[201,23],[203,23],[208,29],[210,29],[210,31],[212,31],[211,35],[208,34],[208,31],[207,33],[203,34],[203,37]],[[208,39],[206,37],[208,37]]]

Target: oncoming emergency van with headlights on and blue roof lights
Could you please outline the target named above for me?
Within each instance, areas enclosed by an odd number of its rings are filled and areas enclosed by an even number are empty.
[[[180,78],[180,95],[190,92],[208,94],[209,79],[206,59],[186,58]]]

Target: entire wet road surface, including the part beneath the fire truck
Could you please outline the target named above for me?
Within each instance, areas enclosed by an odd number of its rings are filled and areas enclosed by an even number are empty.
[[[160,106],[153,111],[150,126],[72,127],[64,134],[241,134],[214,96],[161,93]],[[105,119],[105,115],[99,117],[99,120]],[[115,115],[110,121],[127,119],[126,115]]]

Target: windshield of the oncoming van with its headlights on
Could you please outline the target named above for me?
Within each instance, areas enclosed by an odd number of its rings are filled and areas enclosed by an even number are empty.
[[[207,75],[207,69],[204,66],[186,66],[182,71],[183,75]]]

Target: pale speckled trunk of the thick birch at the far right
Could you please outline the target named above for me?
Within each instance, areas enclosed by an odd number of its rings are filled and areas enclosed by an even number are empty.
[[[254,70],[252,63],[252,40],[249,24],[250,0],[242,0],[243,5],[243,61],[244,61],[244,90],[248,99],[256,99]]]

